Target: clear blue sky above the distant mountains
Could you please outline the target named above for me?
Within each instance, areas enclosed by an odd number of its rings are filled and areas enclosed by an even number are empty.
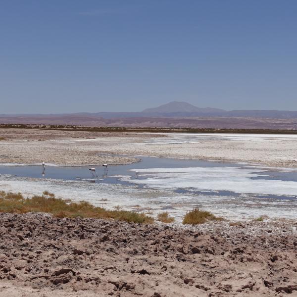
[[[0,114],[297,110],[296,0],[0,0]]]

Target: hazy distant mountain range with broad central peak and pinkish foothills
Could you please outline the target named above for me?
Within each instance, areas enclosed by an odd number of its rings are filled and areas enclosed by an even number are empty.
[[[297,130],[297,111],[223,110],[173,101],[141,112],[0,115],[0,124]]]

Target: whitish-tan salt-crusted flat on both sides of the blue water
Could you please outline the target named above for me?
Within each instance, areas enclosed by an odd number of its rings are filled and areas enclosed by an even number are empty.
[[[186,211],[197,205],[231,220],[260,215],[296,218],[297,182],[265,178],[265,170],[296,170],[297,135],[2,129],[0,136],[6,139],[0,142],[0,161],[6,166],[40,164],[42,161],[46,161],[47,166],[133,164],[137,161],[136,156],[183,160],[179,167],[172,168],[146,168],[140,167],[142,162],[138,163],[132,170],[139,171],[140,179],[132,178],[128,173],[120,173],[117,177],[119,181],[128,182],[126,185],[108,181],[96,184],[87,180],[70,181],[63,177],[42,179],[2,175],[0,190],[20,191],[28,196],[41,195],[48,190],[56,197],[87,200],[107,208],[119,205],[130,210],[149,211],[152,215],[168,211],[177,223],[182,221]],[[208,168],[207,165],[193,165],[197,159],[231,163]],[[246,164],[244,168],[235,163],[239,161]]]

